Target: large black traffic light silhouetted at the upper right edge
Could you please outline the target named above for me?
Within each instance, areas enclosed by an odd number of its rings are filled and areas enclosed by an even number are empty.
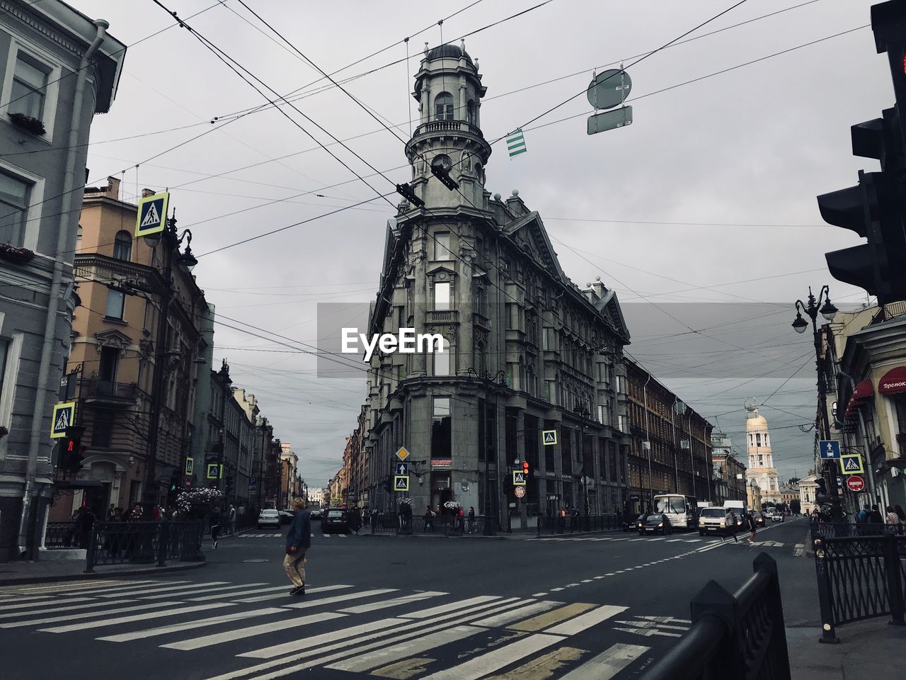
[[[896,103],[882,118],[853,125],[853,155],[881,161],[881,172],[859,172],[859,184],[817,197],[821,216],[834,227],[852,229],[867,243],[825,253],[838,281],[864,288],[884,304],[906,297],[906,4],[872,7],[879,53],[888,54]]]

